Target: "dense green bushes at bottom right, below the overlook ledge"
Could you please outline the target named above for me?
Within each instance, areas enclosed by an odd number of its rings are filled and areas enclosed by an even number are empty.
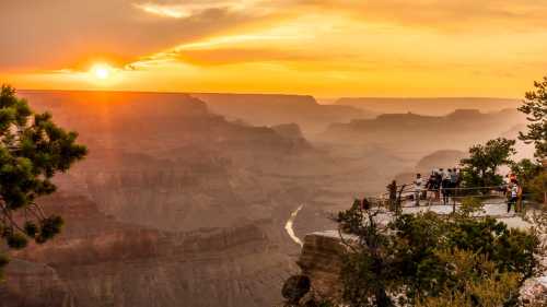
[[[341,212],[340,229],[357,236],[344,259],[341,303],[387,307],[396,296],[412,306],[514,302],[520,283],[534,272],[537,237],[476,217],[477,201],[466,202],[455,214],[403,214],[385,226],[360,205]]]

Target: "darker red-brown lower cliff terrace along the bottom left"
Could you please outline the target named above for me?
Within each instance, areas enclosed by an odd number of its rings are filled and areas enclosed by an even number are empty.
[[[1,306],[266,306],[294,269],[271,221],[182,233],[118,222],[82,197],[57,194],[44,208],[67,227],[12,252],[3,295],[13,305]]]

